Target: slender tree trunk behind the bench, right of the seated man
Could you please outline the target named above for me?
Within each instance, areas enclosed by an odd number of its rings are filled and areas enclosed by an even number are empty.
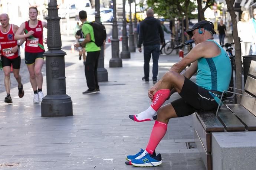
[[[242,61],[241,61],[241,44],[238,38],[236,14],[234,11],[234,0],[226,0],[231,21],[233,25],[233,38],[235,44],[235,64],[236,64],[236,88],[242,89]],[[237,93],[242,93],[238,90]],[[242,96],[236,95],[237,103],[240,103]]]

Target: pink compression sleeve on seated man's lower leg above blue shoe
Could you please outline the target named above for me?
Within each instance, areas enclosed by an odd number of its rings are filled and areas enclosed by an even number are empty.
[[[152,154],[161,141],[161,139],[164,137],[165,133],[167,131],[167,124],[163,122],[159,122],[155,120],[155,125],[152,129],[150,140],[148,141],[148,145],[146,148],[146,151],[150,154]]]

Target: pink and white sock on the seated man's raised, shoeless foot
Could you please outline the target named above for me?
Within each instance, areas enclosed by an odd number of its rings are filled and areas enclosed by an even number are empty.
[[[144,122],[157,119],[157,110],[164,104],[166,99],[170,96],[170,89],[158,90],[152,101],[150,107],[137,115],[129,115],[129,118],[136,122]]]

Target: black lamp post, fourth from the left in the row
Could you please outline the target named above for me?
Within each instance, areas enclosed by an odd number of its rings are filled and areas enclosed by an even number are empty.
[[[123,30],[122,30],[122,52],[121,58],[131,58],[131,53],[128,51],[128,37],[126,30],[126,18],[125,18],[125,0],[123,0]]]

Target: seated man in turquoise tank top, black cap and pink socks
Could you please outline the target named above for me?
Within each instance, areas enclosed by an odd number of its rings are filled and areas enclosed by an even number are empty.
[[[129,161],[126,164],[160,165],[161,154],[156,156],[155,148],[167,131],[169,119],[188,116],[196,110],[217,109],[221,93],[228,89],[231,63],[226,51],[213,41],[213,34],[216,34],[213,23],[203,20],[186,32],[192,36],[196,46],[148,90],[151,106],[137,115],[129,115],[129,118],[137,122],[157,119],[146,149],[141,149],[135,155],[128,155]],[[193,64],[181,75],[180,72],[191,63]],[[195,72],[196,84],[189,80]],[[161,107],[175,91],[181,98]]]

